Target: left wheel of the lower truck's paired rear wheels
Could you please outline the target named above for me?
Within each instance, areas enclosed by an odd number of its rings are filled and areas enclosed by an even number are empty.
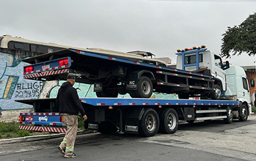
[[[146,109],[139,121],[139,134],[141,136],[154,136],[159,129],[158,113],[154,109]]]

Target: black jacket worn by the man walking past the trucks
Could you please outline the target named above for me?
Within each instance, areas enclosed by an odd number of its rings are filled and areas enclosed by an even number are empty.
[[[77,91],[69,82],[65,82],[61,85],[56,98],[56,104],[59,106],[59,113],[77,115],[78,112],[80,112],[82,116],[86,114],[79,101]]]

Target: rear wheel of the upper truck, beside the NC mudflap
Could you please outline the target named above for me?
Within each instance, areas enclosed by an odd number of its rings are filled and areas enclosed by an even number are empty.
[[[153,84],[148,76],[141,76],[137,85],[137,91],[134,91],[137,98],[150,98],[153,93]]]

